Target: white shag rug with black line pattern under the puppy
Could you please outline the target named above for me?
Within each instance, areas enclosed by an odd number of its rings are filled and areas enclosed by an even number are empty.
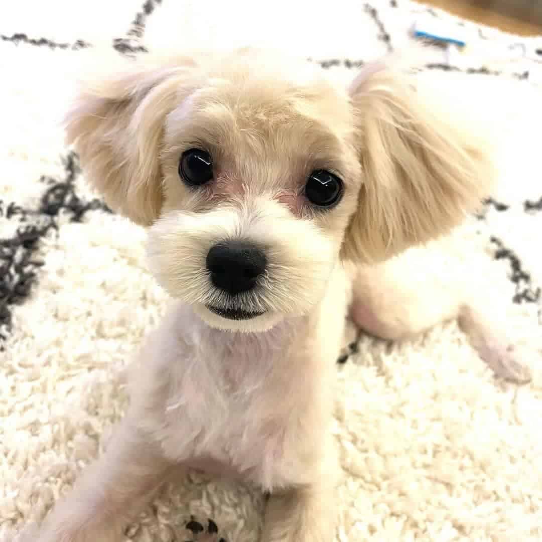
[[[143,231],[89,192],[56,124],[79,51],[267,44],[347,80],[423,16],[467,32],[464,54],[435,49],[428,72],[502,135],[499,188],[455,246],[510,301],[534,378],[495,380],[454,322],[404,344],[362,335],[337,365],[337,540],[542,540],[542,39],[399,0],[141,1],[18,0],[0,16],[0,539],[40,520],[98,454],[131,352],[167,305]],[[197,540],[216,524],[216,540],[256,541],[261,509],[247,488],[191,476],[128,534]]]

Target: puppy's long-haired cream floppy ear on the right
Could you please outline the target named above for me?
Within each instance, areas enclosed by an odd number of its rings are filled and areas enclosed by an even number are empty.
[[[491,190],[486,141],[437,108],[438,91],[422,94],[414,82],[413,73],[373,64],[351,86],[363,185],[345,238],[349,259],[384,260],[446,233]]]

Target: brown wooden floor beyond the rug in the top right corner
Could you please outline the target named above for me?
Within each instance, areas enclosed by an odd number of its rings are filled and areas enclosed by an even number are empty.
[[[512,34],[542,35],[542,0],[423,0],[423,3]]]

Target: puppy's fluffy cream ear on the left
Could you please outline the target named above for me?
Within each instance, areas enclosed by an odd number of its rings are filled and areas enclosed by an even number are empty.
[[[94,55],[93,66],[100,60]],[[67,141],[88,181],[109,207],[137,224],[159,216],[164,119],[193,65],[190,59],[108,57],[101,73],[85,73],[66,115]]]

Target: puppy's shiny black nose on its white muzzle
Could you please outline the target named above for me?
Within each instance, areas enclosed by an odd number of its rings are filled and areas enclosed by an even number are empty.
[[[232,295],[254,288],[266,264],[263,251],[243,241],[218,243],[207,254],[212,283]]]

